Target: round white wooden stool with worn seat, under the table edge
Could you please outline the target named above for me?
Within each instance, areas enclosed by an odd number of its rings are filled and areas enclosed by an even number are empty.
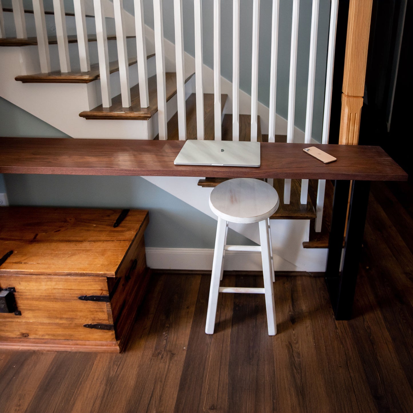
[[[252,178],[236,178],[217,185],[209,196],[209,206],[218,216],[214,261],[205,332],[214,334],[218,292],[243,292],[265,294],[268,335],[275,335],[274,266],[272,262],[269,218],[277,211],[280,199],[277,191],[268,183]],[[261,245],[226,245],[228,222],[259,223]],[[261,251],[264,288],[220,287],[225,251]],[[272,276],[271,276],[272,272]]]

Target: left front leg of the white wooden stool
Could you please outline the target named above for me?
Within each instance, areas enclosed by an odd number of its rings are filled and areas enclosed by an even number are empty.
[[[223,267],[226,225],[227,222],[225,219],[218,218],[218,224],[216,226],[214,261],[212,262],[211,287],[209,287],[207,324],[205,326],[205,332],[207,334],[214,334],[219,281],[221,278],[221,268]]]

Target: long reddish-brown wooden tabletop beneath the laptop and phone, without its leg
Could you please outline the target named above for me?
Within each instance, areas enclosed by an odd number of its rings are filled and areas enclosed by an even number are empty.
[[[407,180],[378,146],[313,145],[337,158],[323,164],[301,143],[261,143],[261,166],[184,166],[173,161],[184,141],[0,138],[0,173],[219,178]]]

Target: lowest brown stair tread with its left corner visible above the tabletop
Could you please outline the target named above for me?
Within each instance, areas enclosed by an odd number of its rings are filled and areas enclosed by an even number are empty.
[[[185,80],[187,82],[190,75]],[[166,78],[166,100],[168,101],[176,94],[176,73],[167,72]],[[79,114],[85,119],[126,119],[126,120],[147,120],[158,110],[157,82],[156,75],[148,78],[149,107],[140,107],[139,84],[131,88],[131,107],[122,107],[121,94],[112,98],[111,107],[99,105],[92,110],[86,110]]]

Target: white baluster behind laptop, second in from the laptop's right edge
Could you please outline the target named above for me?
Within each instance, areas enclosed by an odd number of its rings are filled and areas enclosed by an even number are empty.
[[[233,1],[233,140],[240,140],[240,0]]]

